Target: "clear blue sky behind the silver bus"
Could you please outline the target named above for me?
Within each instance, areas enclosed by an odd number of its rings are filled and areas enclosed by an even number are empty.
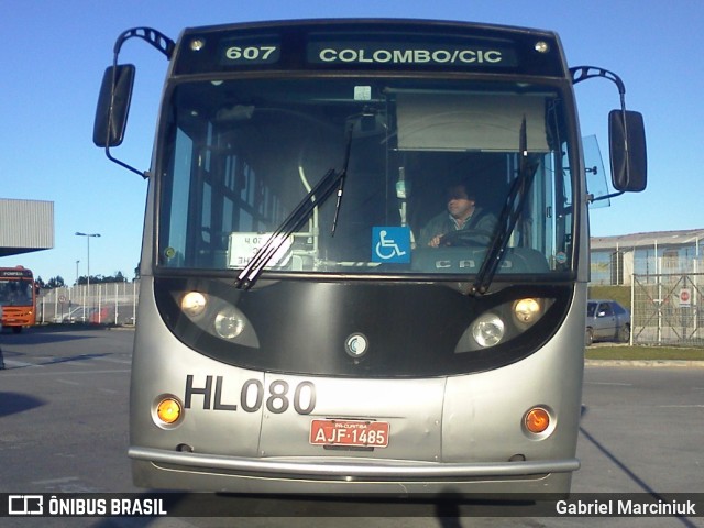
[[[592,235],[704,228],[704,1],[672,0],[64,0],[0,2],[0,198],[54,202],[54,249],[0,257],[44,280],[76,271],[134,276],[146,182],[92,144],[102,73],[117,36],[151,26],[176,40],[187,26],[308,18],[461,20],[557,31],[570,66],[616,72],[629,109],[642,112],[648,188],[592,210]],[[121,62],[136,65],[127,139],[113,154],[150,166],[166,61],[139,40]],[[607,114],[619,105],[605,80],[575,87],[582,135],[607,158]],[[76,261],[79,261],[78,264]]]

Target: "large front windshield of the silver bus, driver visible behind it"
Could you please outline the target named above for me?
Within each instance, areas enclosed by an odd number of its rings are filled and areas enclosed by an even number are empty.
[[[257,258],[278,278],[449,279],[476,274],[508,230],[496,278],[572,270],[574,164],[554,87],[212,79],[173,87],[164,116],[162,268],[237,274]]]

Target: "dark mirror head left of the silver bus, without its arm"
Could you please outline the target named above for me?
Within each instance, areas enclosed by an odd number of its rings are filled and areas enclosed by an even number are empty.
[[[118,146],[128,124],[135,67],[132,64],[110,66],[102,76],[92,142],[96,146]]]

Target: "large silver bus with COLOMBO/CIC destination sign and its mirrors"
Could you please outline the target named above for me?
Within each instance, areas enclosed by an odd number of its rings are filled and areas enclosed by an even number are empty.
[[[168,61],[146,172],[114,150],[132,38]],[[620,96],[615,194],[642,190],[642,117],[623,81],[569,68],[549,31],[375,19],[122,33],[94,143],[148,179],[134,483],[568,493],[597,198],[573,86],[592,78]],[[454,223],[435,244],[433,221]]]

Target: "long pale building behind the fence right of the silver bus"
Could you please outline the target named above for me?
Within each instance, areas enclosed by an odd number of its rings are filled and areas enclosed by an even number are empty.
[[[592,237],[591,284],[630,285],[631,276],[704,272],[704,229]]]

